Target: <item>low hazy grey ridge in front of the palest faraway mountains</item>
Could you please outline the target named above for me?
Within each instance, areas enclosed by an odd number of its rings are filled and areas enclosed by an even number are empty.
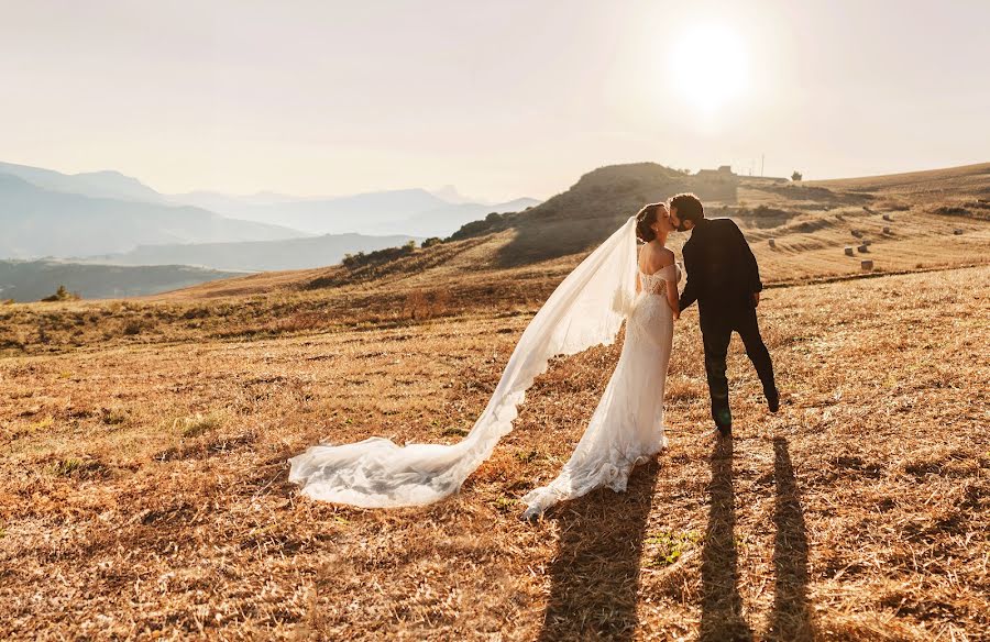
[[[113,265],[197,265],[216,269],[265,272],[336,265],[345,254],[372,252],[421,241],[413,236],[327,234],[286,241],[142,245],[123,254],[86,257],[87,263]]]

